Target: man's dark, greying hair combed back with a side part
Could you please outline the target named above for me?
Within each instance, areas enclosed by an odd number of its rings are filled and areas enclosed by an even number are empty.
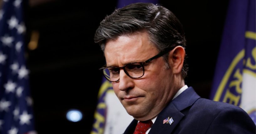
[[[139,31],[148,33],[149,40],[159,52],[175,46],[186,46],[183,27],[177,17],[167,8],[152,3],[134,3],[116,9],[102,20],[95,32],[94,41],[100,44],[104,52],[106,40]],[[164,59],[167,63],[168,54]],[[168,67],[170,68],[169,64]],[[187,70],[188,66],[184,61],[183,78],[186,77]]]

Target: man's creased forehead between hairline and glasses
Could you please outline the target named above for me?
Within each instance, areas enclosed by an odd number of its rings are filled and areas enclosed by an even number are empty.
[[[104,50],[107,66],[144,62],[157,53],[156,47],[144,35],[122,36],[109,40]]]

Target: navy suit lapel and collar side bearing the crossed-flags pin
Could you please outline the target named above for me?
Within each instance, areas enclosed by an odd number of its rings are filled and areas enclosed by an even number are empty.
[[[180,111],[193,105],[199,98],[200,97],[196,94],[192,87],[186,89],[178,97],[172,100],[169,105],[162,110],[162,112],[159,113],[154,125],[149,131],[149,134],[170,134],[176,125],[179,124],[180,120],[185,116]],[[174,122],[171,125],[166,123],[163,124],[163,120],[168,117],[172,117]]]

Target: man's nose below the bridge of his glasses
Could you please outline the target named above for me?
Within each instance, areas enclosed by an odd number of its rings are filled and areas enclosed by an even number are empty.
[[[126,91],[134,87],[134,82],[131,77],[129,77],[123,69],[119,72],[119,90]]]

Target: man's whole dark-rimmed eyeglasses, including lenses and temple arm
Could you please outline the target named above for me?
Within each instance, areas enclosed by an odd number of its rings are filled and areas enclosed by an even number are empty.
[[[128,63],[122,67],[102,67],[99,70],[103,72],[104,77],[110,82],[118,82],[119,81],[119,73],[120,69],[123,69],[123,71],[131,78],[137,79],[141,78],[144,73],[144,65],[158,57],[163,56],[167,52],[170,52],[173,49],[173,47],[166,49],[165,51],[159,52],[156,56],[144,61],[144,62],[133,62],[133,63]]]

